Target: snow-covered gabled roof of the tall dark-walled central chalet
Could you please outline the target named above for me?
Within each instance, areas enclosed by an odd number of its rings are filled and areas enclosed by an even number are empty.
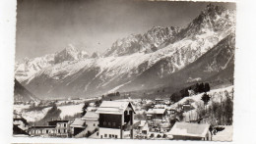
[[[96,113],[97,114],[123,114],[124,111],[129,106],[129,104],[134,112],[134,108],[130,102],[103,101],[99,106],[99,108],[96,110]]]

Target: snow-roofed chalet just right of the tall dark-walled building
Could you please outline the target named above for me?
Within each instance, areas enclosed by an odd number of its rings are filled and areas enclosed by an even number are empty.
[[[166,116],[166,109],[149,109],[147,112],[148,120],[163,120]]]

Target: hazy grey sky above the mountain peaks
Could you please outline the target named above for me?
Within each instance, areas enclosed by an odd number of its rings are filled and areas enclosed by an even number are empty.
[[[235,9],[234,3],[213,3]],[[185,26],[209,2],[145,0],[18,0],[16,61],[59,52],[69,44],[89,54],[153,26]]]

